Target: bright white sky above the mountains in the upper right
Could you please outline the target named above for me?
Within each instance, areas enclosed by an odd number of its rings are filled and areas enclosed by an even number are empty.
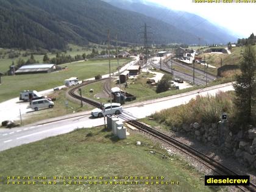
[[[236,37],[239,38],[247,38],[252,32],[254,35],[256,34],[256,2],[236,3],[236,0],[233,0],[233,3],[222,2],[224,0],[220,0],[219,3],[195,3],[192,2],[192,0],[146,1],[154,2],[173,10],[183,10],[202,16],[212,23],[226,27],[233,32],[233,35],[236,35]]]

